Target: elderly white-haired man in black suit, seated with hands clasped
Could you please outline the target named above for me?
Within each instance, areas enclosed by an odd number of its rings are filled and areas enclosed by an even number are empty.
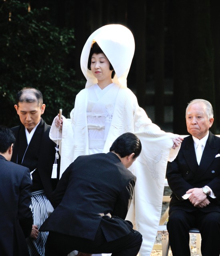
[[[190,256],[190,228],[200,230],[202,256],[220,255],[220,138],[209,131],[213,121],[208,101],[191,101],[186,108],[190,136],[168,163],[173,194],[167,230],[173,256]]]

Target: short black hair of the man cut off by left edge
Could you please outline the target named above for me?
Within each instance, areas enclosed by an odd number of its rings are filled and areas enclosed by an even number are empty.
[[[15,140],[13,131],[4,125],[0,125],[0,153],[6,153],[12,143],[15,143]]]

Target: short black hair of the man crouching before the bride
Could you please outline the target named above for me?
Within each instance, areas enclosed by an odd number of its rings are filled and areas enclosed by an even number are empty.
[[[114,151],[120,157],[134,153],[133,158],[136,158],[140,155],[141,149],[140,139],[136,135],[133,133],[123,133],[113,142],[110,152]]]

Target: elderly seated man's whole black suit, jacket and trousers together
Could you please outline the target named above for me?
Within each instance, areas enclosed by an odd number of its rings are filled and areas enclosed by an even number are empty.
[[[184,138],[176,159],[168,163],[167,180],[172,190],[169,220],[167,224],[170,244],[175,241],[174,255],[190,255],[188,230],[198,228],[202,236],[202,255],[220,254],[220,138],[209,131],[208,140],[200,165],[196,160],[192,136]],[[188,189],[204,187],[212,189],[216,198],[208,196],[210,204],[204,208],[194,207],[182,196]],[[191,213],[190,217],[186,213]],[[181,222],[180,222],[181,220]],[[172,247],[171,247],[172,248]],[[212,251],[211,251],[212,250]]]

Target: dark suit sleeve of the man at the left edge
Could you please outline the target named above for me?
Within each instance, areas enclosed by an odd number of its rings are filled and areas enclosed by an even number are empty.
[[[18,219],[25,237],[30,236],[33,224],[32,212],[30,209],[31,188],[32,180],[30,178],[30,171],[27,168],[20,185],[20,197],[18,202]]]

